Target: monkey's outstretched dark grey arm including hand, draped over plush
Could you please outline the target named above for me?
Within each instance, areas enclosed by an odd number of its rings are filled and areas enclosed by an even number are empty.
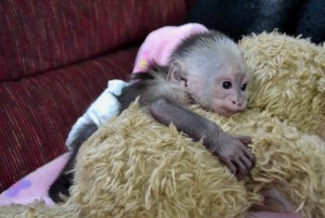
[[[160,98],[150,106],[152,116],[164,125],[173,124],[192,139],[203,139],[204,145],[236,175],[244,179],[253,166],[255,156],[247,149],[250,137],[230,136],[214,123]]]

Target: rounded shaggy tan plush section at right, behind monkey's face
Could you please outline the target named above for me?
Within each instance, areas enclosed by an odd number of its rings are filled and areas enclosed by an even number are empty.
[[[325,44],[274,33],[240,46],[252,73],[249,107],[325,139]]]

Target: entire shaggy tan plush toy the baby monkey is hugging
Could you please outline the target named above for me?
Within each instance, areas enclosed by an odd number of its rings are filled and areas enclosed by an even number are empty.
[[[231,118],[191,110],[226,132],[252,137],[257,162],[245,181],[202,142],[156,123],[135,103],[81,146],[66,203],[0,214],[246,217],[262,204],[261,190],[276,188],[303,217],[325,217],[325,48],[276,33],[246,37],[240,46],[252,76],[249,108]]]

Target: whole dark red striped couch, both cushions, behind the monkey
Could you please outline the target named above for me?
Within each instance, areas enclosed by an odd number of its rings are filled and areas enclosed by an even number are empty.
[[[185,0],[0,3],[0,192],[66,151],[107,80],[126,79],[152,30],[180,24]]]

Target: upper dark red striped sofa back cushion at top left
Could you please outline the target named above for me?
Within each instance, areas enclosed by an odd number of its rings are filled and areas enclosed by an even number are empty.
[[[184,17],[182,0],[6,0],[0,11],[0,80],[75,63]]]

